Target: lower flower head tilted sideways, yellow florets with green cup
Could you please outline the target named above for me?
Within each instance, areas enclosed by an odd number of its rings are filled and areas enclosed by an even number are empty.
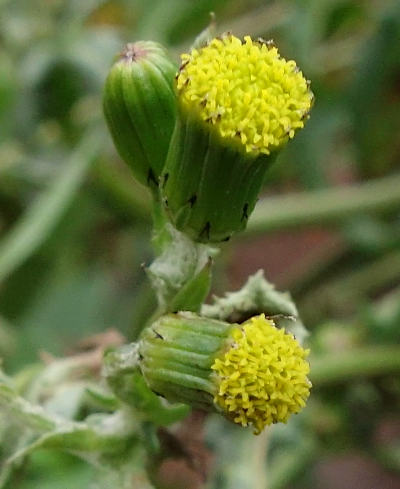
[[[144,331],[139,366],[169,401],[216,411],[260,433],[305,406],[308,353],[263,314],[239,325],[179,313]]]

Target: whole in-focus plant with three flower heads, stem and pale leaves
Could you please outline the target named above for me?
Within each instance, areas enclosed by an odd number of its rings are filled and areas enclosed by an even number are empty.
[[[218,243],[246,227],[268,167],[312,102],[295,62],[262,39],[208,39],[179,69],[154,42],[122,51],[104,113],[120,156],[152,195],[156,258],[146,272],[158,307],[135,343],[104,358],[101,347],[17,380],[0,370],[0,437],[10,440],[0,487],[40,448],[91,462],[96,488],[160,487],[157,467],[176,448],[165,446],[173,434],[164,427],[191,407],[230,421],[225,434],[236,425],[252,438],[301,411],[308,350],[290,296],[259,271],[240,290],[206,298]],[[99,358],[104,384],[93,373]]]

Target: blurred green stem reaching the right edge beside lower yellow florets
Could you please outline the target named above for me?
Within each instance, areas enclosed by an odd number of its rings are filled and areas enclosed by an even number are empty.
[[[400,346],[368,346],[310,360],[311,381],[319,387],[349,382],[357,377],[400,372]]]

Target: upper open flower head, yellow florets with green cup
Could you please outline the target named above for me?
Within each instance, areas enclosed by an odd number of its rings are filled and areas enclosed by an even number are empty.
[[[223,241],[246,226],[267,168],[304,126],[313,95],[295,62],[265,41],[226,35],[182,60],[165,206],[195,241]]]

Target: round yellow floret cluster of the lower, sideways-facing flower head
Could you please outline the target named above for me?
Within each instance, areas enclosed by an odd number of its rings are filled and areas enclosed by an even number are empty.
[[[298,413],[310,394],[309,351],[262,314],[231,332],[232,343],[212,365],[214,402],[256,433]]]

